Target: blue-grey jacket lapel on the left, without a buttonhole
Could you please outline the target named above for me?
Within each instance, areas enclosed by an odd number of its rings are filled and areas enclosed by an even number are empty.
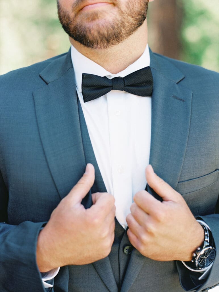
[[[86,167],[70,51],[52,61],[40,76],[47,86],[33,92],[36,118],[51,175],[63,198]],[[83,204],[89,207],[91,196]]]

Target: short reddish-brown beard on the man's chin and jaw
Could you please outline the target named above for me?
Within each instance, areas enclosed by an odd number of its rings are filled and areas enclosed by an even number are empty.
[[[114,7],[110,11],[79,11],[78,7],[82,3],[83,0],[74,1],[72,11],[69,12],[57,1],[58,17],[72,39],[92,49],[107,49],[121,43],[147,17],[148,0],[128,0],[123,8],[118,0],[113,0]]]

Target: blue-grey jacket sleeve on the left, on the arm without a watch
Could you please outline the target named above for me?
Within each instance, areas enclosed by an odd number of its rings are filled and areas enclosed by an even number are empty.
[[[45,222],[7,224],[8,191],[0,172],[0,291],[45,292],[36,264],[38,234]]]

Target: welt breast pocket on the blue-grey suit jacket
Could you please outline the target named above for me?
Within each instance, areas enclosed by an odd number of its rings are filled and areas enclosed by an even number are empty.
[[[208,173],[206,175],[200,176],[198,178],[193,178],[190,180],[181,181],[177,184],[176,191],[181,195],[188,194],[201,190],[215,183],[219,178],[219,169]]]

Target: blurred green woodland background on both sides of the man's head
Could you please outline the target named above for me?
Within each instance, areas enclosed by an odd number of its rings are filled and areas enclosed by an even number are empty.
[[[219,1],[154,0],[149,4],[153,51],[219,71]],[[0,74],[66,52],[56,0],[0,0]]]

